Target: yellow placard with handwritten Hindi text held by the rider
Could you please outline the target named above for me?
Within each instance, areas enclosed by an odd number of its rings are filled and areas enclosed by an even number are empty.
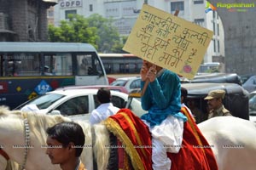
[[[123,49],[192,79],[212,35],[206,28],[144,4]]]

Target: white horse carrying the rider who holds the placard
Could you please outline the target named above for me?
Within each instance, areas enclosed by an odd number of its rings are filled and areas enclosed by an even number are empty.
[[[29,124],[29,144],[33,147],[27,152],[25,159],[24,148],[13,148],[15,144],[26,143],[27,117]],[[20,111],[9,111],[0,108],[0,144],[3,150],[9,155],[11,160],[17,161],[20,165],[26,162],[26,170],[51,170],[60,169],[59,166],[51,165],[49,157],[45,154],[45,144],[47,127],[53,126],[57,122],[70,121],[62,116],[47,116],[33,113],[21,113]],[[92,144],[92,136],[96,140],[92,148],[84,148],[81,160],[88,170],[93,169],[92,153],[95,154],[97,169],[105,170],[108,167],[110,156],[106,144],[109,143],[109,133],[105,125],[98,124],[92,129],[88,123],[79,122],[84,128],[85,143]],[[208,143],[212,145],[214,156],[216,157],[219,170],[254,170],[256,167],[256,125],[233,116],[222,116],[212,118],[198,125],[201,133],[204,134]],[[93,133],[91,133],[93,132]],[[0,161],[1,163],[1,161]],[[1,164],[0,167],[3,165]],[[195,167],[195,169],[200,169]]]

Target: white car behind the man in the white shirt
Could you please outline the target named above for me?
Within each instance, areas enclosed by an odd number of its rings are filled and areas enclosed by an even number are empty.
[[[97,91],[98,89],[55,90],[36,99],[29,100],[15,108],[15,110],[20,110],[26,106],[33,106],[37,108],[38,113],[69,116],[73,120],[88,121],[90,112],[100,105],[96,100]],[[111,91],[111,96],[113,105],[125,108],[128,94]],[[134,105],[140,105],[140,102]],[[131,106],[131,108],[136,107]]]

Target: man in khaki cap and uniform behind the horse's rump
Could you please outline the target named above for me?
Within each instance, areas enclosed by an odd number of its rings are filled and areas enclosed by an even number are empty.
[[[225,91],[224,90],[212,90],[209,92],[207,97],[207,105],[209,107],[208,119],[215,116],[232,116],[230,111],[228,111],[223,105]]]

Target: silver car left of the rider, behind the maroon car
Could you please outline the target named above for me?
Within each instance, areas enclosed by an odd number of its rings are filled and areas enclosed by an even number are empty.
[[[123,86],[130,93],[132,89],[141,87],[141,77],[119,77],[110,85]]]

